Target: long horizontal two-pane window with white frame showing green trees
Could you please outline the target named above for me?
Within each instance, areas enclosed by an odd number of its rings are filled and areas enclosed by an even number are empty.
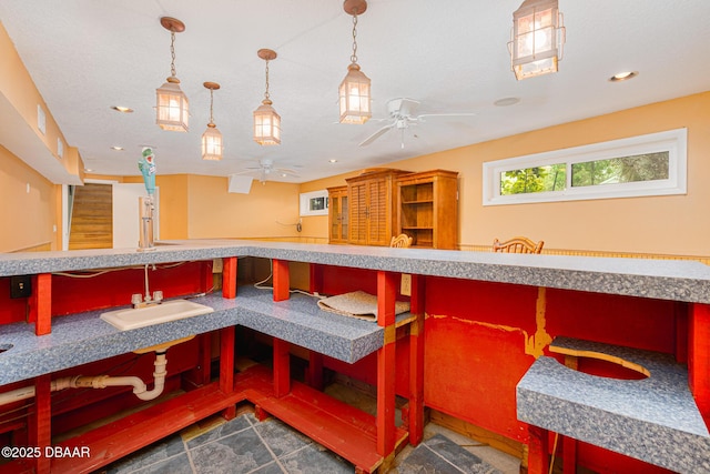
[[[686,193],[687,130],[484,163],[484,205]]]

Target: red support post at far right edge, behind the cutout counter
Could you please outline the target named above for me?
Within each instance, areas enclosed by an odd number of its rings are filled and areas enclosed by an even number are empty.
[[[692,303],[688,334],[688,383],[700,414],[710,422],[710,305]]]

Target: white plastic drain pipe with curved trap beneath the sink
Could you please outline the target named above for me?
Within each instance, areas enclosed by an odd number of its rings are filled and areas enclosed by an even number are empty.
[[[168,360],[165,357],[165,351],[155,352],[155,371],[153,372],[153,389],[148,390],[145,383],[138,376],[116,376],[110,375],[95,375],[84,376],[77,375],[73,377],[61,377],[53,380],[50,385],[52,392],[57,392],[64,389],[105,389],[106,386],[133,386],[133,394],[141,400],[154,400],[165,387],[165,376],[168,371],[165,365]],[[12,390],[10,392],[0,393],[0,406],[8,403],[18,402],[20,400],[27,400],[34,396],[34,386],[24,386],[22,389]]]

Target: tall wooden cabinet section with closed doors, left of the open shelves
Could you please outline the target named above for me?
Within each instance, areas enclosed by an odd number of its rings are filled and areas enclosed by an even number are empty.
[[[396,179],[407,171],[367,170],[345,180],[349,205],[348,243],[389,245],[396,226]]]

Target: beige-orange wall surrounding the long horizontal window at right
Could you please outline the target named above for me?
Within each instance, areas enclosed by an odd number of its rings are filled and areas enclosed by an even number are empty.
[[[389,163],[409,171],[459,172],[459,243],[528,235],[546,248],[676,255],[710,254],[710,92]],[[687,195],[483,206],[483,163],[688,128]],[[304,184],[323,189],[346,177]],[[313,225],[323,228],[325,218]],[[325,220],[327,222],[327,220]]]

